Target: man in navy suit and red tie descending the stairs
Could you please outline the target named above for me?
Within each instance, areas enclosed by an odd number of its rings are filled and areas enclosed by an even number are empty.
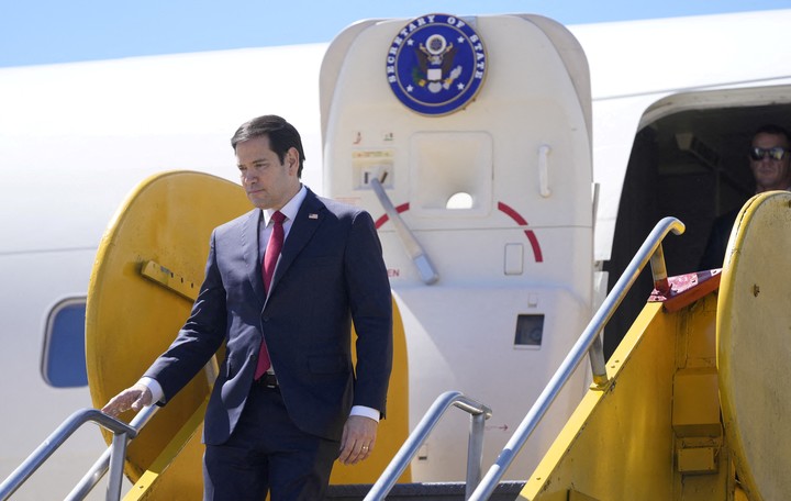
[[[225,343],[204,419],[204,499],[317,500],[336,458],[368,457],[385,415],[392,311],[381,246],[367,212],[302,186],[301,140],[283,119],[254,119],[231,143],[256,209],[214,230],[189,320],[102,410],[166,404]]]

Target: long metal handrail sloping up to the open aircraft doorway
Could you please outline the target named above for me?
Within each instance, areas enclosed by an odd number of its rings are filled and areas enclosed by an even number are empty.
[[[571,347],[571,350],[544,388],[544,391],[538,396],[538,399],[516,428],[511,439],[505,444],[494,465],[489,468],[483,480],[481,480],[472,492],[472,496],[469,498],[471,501],[489,499],[502,476],[505,475],[505,470],[511,466],[511,463],[513,463],[516,454],[522,449],[536,426],[538,426],[549,405],[555,401],[562,387],[589,350],[591,352],[590,361],[594,383],[600,389],[604,389],[608,386],[609,381],[606,367],[604,365],[604,354],[599,334],[610,321],[621,304],[621,301],[623,301],[623,298],[639,276],[639,272],[649,260],[651,263],[655,287],[659,290],[667,290],[669,288],[661,241],[670,231],[676,235],[680,235],[684,232],[684,225],[676,218],[665,218],[654,226],[654,231],[651,231],[643,243],[643,246],[637,250],[637,254],[632,258],[632,261],[623,275],[621,275],[615,287],[610,291],[599,308],[599,311],[593,315],[593,319],[582,332],[577,343]]]

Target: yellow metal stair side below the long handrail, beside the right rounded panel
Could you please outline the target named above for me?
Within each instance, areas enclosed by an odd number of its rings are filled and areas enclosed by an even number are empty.
[[[648,303],[608,361],[610,386],[588,391],[520,499],[732,499],[712,422],[715,312],[715,294],[673,313]]]

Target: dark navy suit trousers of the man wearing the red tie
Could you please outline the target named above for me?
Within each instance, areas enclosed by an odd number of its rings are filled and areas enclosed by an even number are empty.
[[[299,430],[280,391],[253,385],[233,434],[208,445],[203,456],[203,499],[320,500],[330,482],[339,443]]]

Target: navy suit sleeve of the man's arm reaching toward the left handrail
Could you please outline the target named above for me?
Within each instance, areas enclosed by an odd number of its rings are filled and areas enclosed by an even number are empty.
[[[190,318],[178,336],[146,370],[156,379],[167,402],[211,359],[225,338],[225,289],[216,263],[215,233],[212,233],[205,278]]]

